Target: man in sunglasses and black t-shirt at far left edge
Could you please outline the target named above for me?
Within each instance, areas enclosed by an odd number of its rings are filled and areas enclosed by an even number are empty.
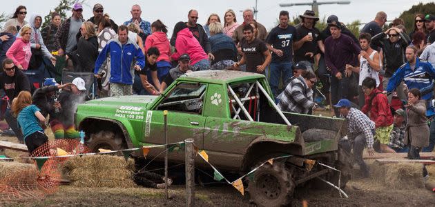
[[[23,133],[18,126],[17,118],[10,112],[10,106],[12,106],[12,100],[18,96],[19,92],[23,90],[30,92],[30,83],[27,76],[14,65],[12,59],[4,59],[1,66],[3,67],[3,72],[0,74],[0,89],[5,90],[9,99],[5,119],[14,131],[15,136],[17,136],[18,141],[23,143]]]

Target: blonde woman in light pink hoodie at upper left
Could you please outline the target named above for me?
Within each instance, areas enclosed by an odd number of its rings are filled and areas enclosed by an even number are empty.
[[[30,35],[32,34],[32,29],[28,26],[21,28],[21,37],[12,43],[8,52],[6,52],[6,57],[14,61],[14,65],[20,70],[27,70],[30,62],[30,57],[32,57],[32,51],[30,50]]]

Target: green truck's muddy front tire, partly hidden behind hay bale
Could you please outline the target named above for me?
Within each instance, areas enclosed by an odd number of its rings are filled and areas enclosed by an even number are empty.
[[[119,133],[101,130],[90,134],[89,139],[86,141],[86,146],[88,146],[92,152],[99,152],[99,148],[106,150],[122,150],[126,148],[126,143]]]

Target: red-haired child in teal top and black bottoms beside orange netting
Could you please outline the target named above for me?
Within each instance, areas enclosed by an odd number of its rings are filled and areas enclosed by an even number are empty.
[[[46,118],[40,112],[37,106],[32,105],[32,95],[28,91],[21,91],[12,101],[12,112],[21,131],[23,132],[24,143],[28,148],[30,155],[32,152],[48,141],[41,126],[45,126]]]

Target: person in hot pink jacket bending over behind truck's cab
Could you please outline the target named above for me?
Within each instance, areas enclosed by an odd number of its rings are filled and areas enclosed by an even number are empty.
[[[175,50],[177,52],[172,55],[173,61],[177,61],[181,55],[187,53],[191,57],[191,66],[193,68],[209,70],[209,56],[202,49],[200,42],[193,37],[186,23],[180,21],[175,24],[174,32],[177,34],[177,40],[175,41]]]

